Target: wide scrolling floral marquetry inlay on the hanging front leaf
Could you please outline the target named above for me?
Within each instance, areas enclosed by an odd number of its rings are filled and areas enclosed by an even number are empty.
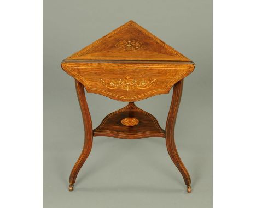
[[[148,89],[154,83],[156,79],[132,79],[129,76],[124,79],[99,79],[99,81],[109,89],[122,89],[122,90],[133,90],[133,89]]]

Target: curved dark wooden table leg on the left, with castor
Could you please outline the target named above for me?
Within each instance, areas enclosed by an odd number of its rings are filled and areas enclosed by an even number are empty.
[[[78,101],[80,104],[80,108],[83,115],[84,121],[84,147],[83,150],[75,163],[70,177],[69,177],[69,191],[73,191],[73,186],[75,183],[75,179],[77,178],[77,174],[79,170],[82,168],[84,162],[86,161],[87,157],[90,154],[91,147],[92,147],[92,123],[91,123],[91,116],[89,112],[89,108],[86,102],[85,94],[84,94],[84,86],[79,81],[75,80],[75,89],[77,90]]]

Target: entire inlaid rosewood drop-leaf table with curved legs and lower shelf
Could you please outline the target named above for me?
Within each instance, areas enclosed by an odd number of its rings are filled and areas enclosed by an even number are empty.
[[[73,190],[77,174],[90,154],[92,138],[108,136],[120,139],[165,138],[168,154],[181,172],[187,191],[191,192],[188,170],[174,142],[183,79],[195,68],[190,59],[136,22],[129,21],[69,56],[61,66],[75,79],[85,131],[83,150],[70,174],[69,191]],[[164,130],[152,114],[139,109],[134,102],[168,94],[172,87],[172,101]],[[84,88],[88,93],[129,103],[107,115],[96,129],[92,129]]]

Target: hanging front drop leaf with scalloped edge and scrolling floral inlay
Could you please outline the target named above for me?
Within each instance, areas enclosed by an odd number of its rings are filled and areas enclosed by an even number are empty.
[[[159,94],[167,94],[175,83],[194,70],[194,64],[166,63],[62,62],[61,66],[67,74],[81,82],[88,93],[96,93],[124,102],[134,102]],[[129,80],[130,84],[125,83]],[[104,84],[104,82],[111,83],[112,81],[121,81],[123,84],[114,88]],[[144,87],[143,82],[146,83]]]

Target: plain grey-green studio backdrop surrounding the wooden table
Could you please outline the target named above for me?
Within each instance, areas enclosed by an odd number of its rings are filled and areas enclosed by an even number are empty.
[[[95,137],[73,192],[68,178],[84,142],[74,79],[60,63],[133,20],[196,64],[184,79],[176,145],[191,176],[188,194],[164,138]],[[212,207],[212,1],[44,0],[44,207]],[[137,102],[165,128],[171,95]],[[86,94],[93,127],[126,103]]]

